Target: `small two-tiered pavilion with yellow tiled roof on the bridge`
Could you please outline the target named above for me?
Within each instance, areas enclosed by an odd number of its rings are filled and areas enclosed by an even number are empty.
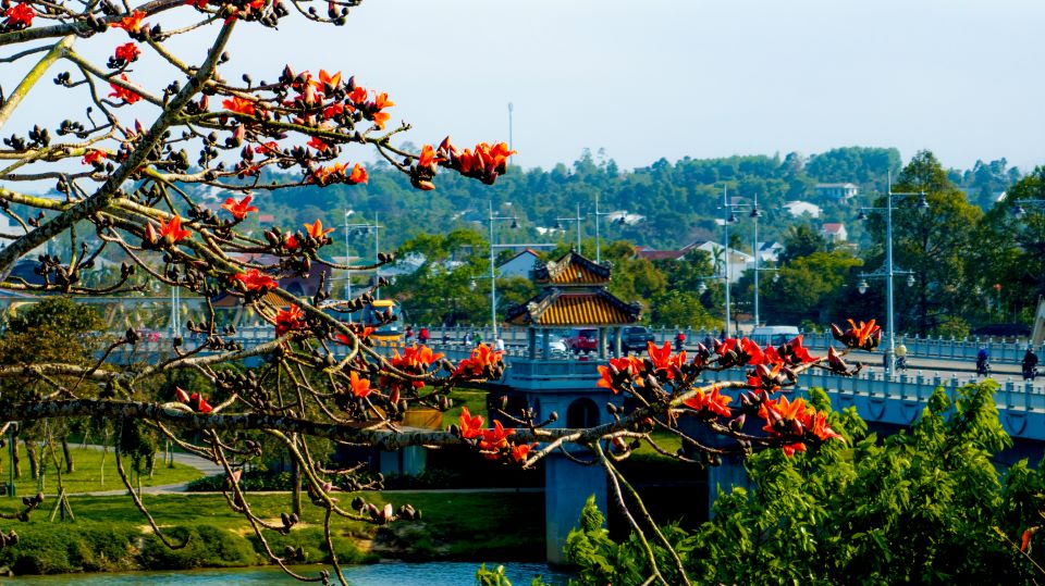
[[[606,290],[610,264],[597,263],[570,250],[556,261],[538,264],[533,278],[541,288],[532,299],[511,308],[505,323],[527,327],[529,356],[537,358],[537,336],[548,358],[548,336],[562,327],[591,327],[599,332],[599,357],[605,358],[607,334],[614,333],[614,349],[620,354],[620,333],[639,320],[642,308],[626,303]]]

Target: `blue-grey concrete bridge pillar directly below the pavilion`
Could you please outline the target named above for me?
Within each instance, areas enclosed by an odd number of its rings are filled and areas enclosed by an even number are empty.
[[[563,547],[570,529],[578,526],[588,497],[606,514],[606,472],[602,466],[582,466],[561,453],[544,459],[544,539],[549,563],[565,563]]]

